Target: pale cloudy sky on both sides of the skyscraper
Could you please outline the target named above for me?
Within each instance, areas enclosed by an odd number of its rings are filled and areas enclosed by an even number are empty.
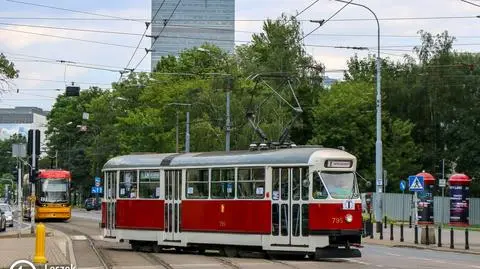
[[[480,0],[469,1],[480,6]],[[260,32],[263,20],[275,19],[282,13],[295,15],[313,2],[314,0],[236,0],[236,44],[245,44],[243,41],[249,41],[252,32]],[[25,3],[132,20],[106,19]],[[433,34],[447,30],[456,37],[454,49],[457,51],[478,52],[480,49],[480,18],[476,17],[480,15],[480,7],[461,0],[354,0],[353,3],[368,6],[380,19],[382,58],[402,61],[405,54],[412,54],[412,48],[420,44],[419,30]],[[318,26],[310,20],[327,19],[344,5],[334,0],[317,1],[297,17],[301,21],[303,32],[309,33]],[[35,106],[50,110],[55,97],[64,92],[66,84],[72,82],[82,88],[110,88],[111,83],[120,77],[118,72],[111,70],[120,70],[126,66],[145,30],[144,22],[150,19],[151,0],[0,0],[0,52],[13,61],[20,71],[19,78],[13,81],[12,90],[1,93],[0,107]],[[124,34],[30,26],[116,31]],[[346,68],[350,57],[355,54],[360,57],[376,54],[377,24],[368,10],[349,5],[307,36],[304,42],[306,51],[325,65],[326,76],[341,78],[342,70]],[[368,47],[369,50],[331,46]],[[144,48],[149,47],[150,39],[143,38],[132,63],[140,62],[145,54]],[[68,62],[75,62],[77,66],[69,65]],[[141,62],[137,71],[150,71],[149,56]]]

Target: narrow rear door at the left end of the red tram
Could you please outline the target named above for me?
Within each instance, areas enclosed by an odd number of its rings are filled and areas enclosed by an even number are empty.
[[[106,218],[105,228],[106,237],[115,237],[116,226],[116,201],[117,197],[117,172],[105,173],[105,206],[106,206]]]

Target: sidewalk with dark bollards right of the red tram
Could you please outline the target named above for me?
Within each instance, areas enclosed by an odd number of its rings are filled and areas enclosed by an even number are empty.
[[[422,227],[418,226],[418,244],[415,244],[415,229],[407,225],[403,226],[403,237],[404,242],[400,242],[400,226],[394,226],[393,229],[393,240],[390,240],[390,226],[383,229],[383,240],[380,240],[380,233],[374,233],[374,238],[371,239],[370,236],[362,238],[364,244],[375,244],[375,245],[384,245],[390,247],[410,247],[410,248],[422,248],[422,249],[431,249],[439,251],[449,251],[449,252],[458,252],[458,253],[469,253],[469,254],[478,254],[480,255],[480,232],[479,231],[470,231],[468,232],[468,245],[469,249],[465,249],[465,231],[454,229],[454,248],[450,248],[450,229],[442,229],[442,247],[438,247],[438,227],[435,226],[435,243],[430,243],[429,245],[421,244],[422,239]],[[432,228],[432,226],[429,226]],[[431,229],[429,229],[431,231]],[[375,231],[375,227],[374,227]],[[429,236],[430,237],[430,236]]]

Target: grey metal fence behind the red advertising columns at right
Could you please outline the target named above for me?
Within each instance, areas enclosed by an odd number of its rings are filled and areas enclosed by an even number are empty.
[[[375,207],[376,193],[373,193],[372,197],[372,206]],[[413,195],[412,194],[401,194],[401,193],[384,193],[383,194],[383,215],[387,216],[389,219],[396,221],[408,221],[410,215],[412,214],[412,205],[413,205]],[[364,199],[364,194],[362,194],[362,200]],[[480,198],[469,198],[470,208],[469,208],[469,223],[470,225],[480,225]],[[435,223],[450,222],[450,197],[434,197],[433,198],[433,217]],[[442,215],[443,214],[443,215]]]

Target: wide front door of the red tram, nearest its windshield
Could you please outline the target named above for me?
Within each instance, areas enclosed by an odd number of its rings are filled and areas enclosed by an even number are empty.
[[[272,245],[308,245],[308,167],[273,168]]]

